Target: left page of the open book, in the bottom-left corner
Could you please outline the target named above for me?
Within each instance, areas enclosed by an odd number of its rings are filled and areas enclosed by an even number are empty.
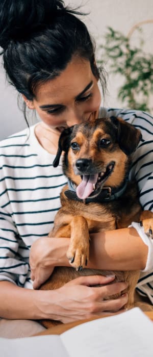
[[[1,357],[69,357],[58,335],[0,338]]]

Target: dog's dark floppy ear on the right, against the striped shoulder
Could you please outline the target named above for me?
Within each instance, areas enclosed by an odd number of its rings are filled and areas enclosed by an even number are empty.
[[[119,147],[127,156],[131,155],[142,138],[140,130],[132,124],[127,123],[122,118],[111,117],[118,130]]]

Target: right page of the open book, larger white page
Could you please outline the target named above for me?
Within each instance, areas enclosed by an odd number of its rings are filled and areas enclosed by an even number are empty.
[[[139,308],[75,326],[61,335],[71,357],[152,357],[153,323]]]

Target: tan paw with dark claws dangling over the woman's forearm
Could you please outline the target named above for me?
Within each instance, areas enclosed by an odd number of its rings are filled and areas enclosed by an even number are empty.
[[[66,256],[72,267],[77,271],[81,271],[87,266],[89,260],[89,244],[84,246],[70,243]]]

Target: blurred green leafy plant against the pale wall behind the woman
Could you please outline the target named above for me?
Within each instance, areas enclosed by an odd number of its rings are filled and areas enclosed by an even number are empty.
[[[151,111],[149,98],[153,93],[153,55],[143,51],[142,39],[139,39],[139,46],[131,45],[130,37],[136,28],[141,31],[139,24],[135,25],[126,37],[109,27],[105,43],[99,46],[98,62],[103,66],[107,63],[110,72],[119,73],[124,79],[118,91],[119,99],[126,100],[129,108]]]

